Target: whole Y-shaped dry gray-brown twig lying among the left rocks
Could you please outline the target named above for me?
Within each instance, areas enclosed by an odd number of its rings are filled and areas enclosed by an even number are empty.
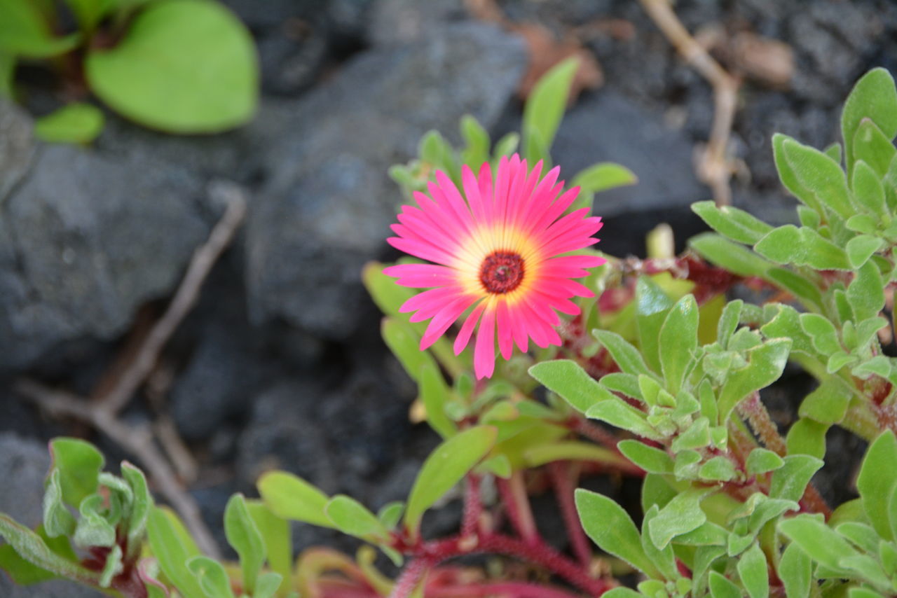
[[[155,367],[159,359],[162,347],[196,304],[205,278],[225,247],[231,243],[246,215],[246,199],[238,186],[216,183],[210,189],[210,195],[221,200],[225,205],[221,219],[215,224],[205,244],[196,249],[187,266],[187,273],[185,273],[174,298],[171,299],[169,308],[152,325],[149,332],[139,339],[134,351],[128,351],[129,355],[133,357],[126,362],[121,373],[116,372],[114,376],[100,377],[103,381],[111,380],[110,386],[100,390],[100,393],[92,401],[28,379],[20,380],[15,385],[15,391],[48,412],[74,417],[91,424],[95,429],[117,442],[119,446],[125,448],[126,451],[135,455],[140,464],[149,472],[152,482],[160,490],[161,495],[168,499],[171,506],[183,518],[184,524],[196,538],[196,544],[200,550],[209,556],[219,558],[221,551],[214,541],[212,533],[205,525],[196,501],[183,488],[178,472],[157,446],[152,427],[130,426],[118,420],[118,412],[130,401],[136,390],[152,373],[152,368]],[[113,368],[118,368],[118,364]],[[165,446],[182,448],[178,438],[170,438],[172,433],[176,435],[173,426],[165,426],[164,423],[163,420],[161,429],[166,433]],[[170,458],[177,459],[179,464],[192,463],[192,459],[178,458],[178,452],[175,453],[170,455]]]

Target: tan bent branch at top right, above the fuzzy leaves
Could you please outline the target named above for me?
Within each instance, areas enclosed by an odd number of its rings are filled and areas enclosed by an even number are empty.
[[[675,15],[669,0],[640,0],[645,12],[663,31],[666,39],[683,56],[685,62],[694,67],[713,87],[714,111],[713,125],[707,147],[701,153],[701,161],[697,166],[697,175],[713,190],[713,198],[718,205],[732,203],[732,190],[729,178],[732,166],[727,158],[729,134],[732,132],[732,121],[735,119],[736,91],[738,81],[726,69],[710,56],[707,49],[701,46],[686,30]]]

